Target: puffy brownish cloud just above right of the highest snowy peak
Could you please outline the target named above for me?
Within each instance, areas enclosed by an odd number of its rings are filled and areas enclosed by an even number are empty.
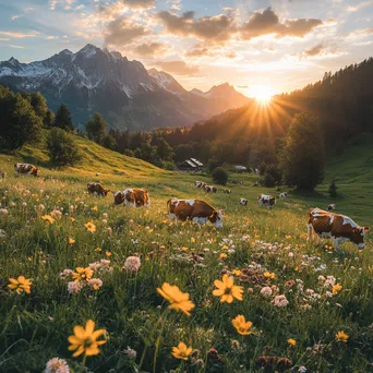
[[[120,16],[108,24],[105,43],[116,46],[127,45],[148,33],[149,31],[144,26],[134,24],[131,20]]]

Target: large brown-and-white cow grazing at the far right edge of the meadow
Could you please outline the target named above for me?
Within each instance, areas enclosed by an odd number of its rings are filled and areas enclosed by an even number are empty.
[[[359,227],[348,216],[325,212],[320,208],[311,208],[308,213],[308,241],[317,234],[317,243],[321,238],[332,238],[333,245],[346,241],[354,243],[359,249],[364,249],[364,237],[370,230],[368,227]]]

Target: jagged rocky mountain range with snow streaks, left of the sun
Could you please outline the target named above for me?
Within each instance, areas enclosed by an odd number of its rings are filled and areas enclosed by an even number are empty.
[[[120,130],[184,127],[249,101],[227,83],[202,94],[188,92],[164,71],[146,70],[118,51],[89,44],[76,53],[64,49],[44,61],[0,62],[0,84],[40,92],[52,110],[65,103],[80,128],[94,112]]]

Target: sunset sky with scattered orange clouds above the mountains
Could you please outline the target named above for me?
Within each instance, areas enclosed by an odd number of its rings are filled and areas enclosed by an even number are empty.
[[[373,0],[0,0],[0,60],[88,43],[186,89],[291,92],[373,56]]]

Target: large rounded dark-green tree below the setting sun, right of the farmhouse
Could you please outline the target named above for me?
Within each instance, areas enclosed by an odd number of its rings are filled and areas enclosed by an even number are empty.
[[[294,116],[280,158],[287,185],[313,190],[323,181],[325,153],[317,117],[304,112]]]

